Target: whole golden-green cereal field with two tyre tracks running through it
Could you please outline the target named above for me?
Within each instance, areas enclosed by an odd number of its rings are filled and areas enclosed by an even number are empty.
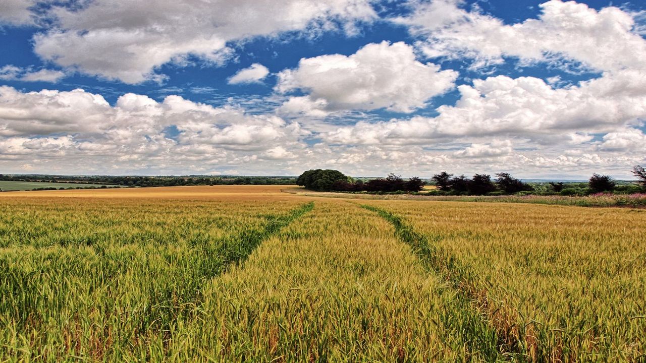
[[[0,361],[641,362],[643,209],[0,193]]]

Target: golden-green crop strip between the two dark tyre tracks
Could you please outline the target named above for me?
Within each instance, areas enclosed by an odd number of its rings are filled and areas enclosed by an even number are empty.
[[[200,337],[197,356],[214,362],[503,358],[494,329],[475,326],[481,316],[356,203],[317,203],[204,294],[188,330]],[[475,339],[486,344],[469,349]]]

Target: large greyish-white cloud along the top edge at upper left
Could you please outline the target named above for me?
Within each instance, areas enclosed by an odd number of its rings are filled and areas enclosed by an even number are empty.
[[[54,27],[34,36],[34,50],[61,67],[125,83],[163,79],[156,68],[188,56],[222,63],[226,44],[280,32],[371,21],[368,0],[94,1],[54,7]]]

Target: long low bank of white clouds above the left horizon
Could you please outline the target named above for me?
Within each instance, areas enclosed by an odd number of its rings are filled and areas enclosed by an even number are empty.
[[[168,127],[178,131],[175,138],[166,136]],[[59,167],[72,169],[110,162],[145,169],[178,168],[180,163],[180,169],[207,170],[261,155],[291,160],[305,136],[298,123],[278,116],[249,115],[180,96],[158,102],[124,94],[113,106],[81,89],[21,92],[0,87],[0,154],[5,160],[30,159],[32,165],[56,156]],[[79,160],[84,162],[73,164]]]

